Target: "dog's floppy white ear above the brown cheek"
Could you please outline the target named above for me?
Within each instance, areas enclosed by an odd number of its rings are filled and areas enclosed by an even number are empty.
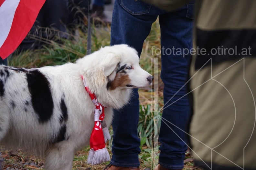
[[[113,71],[116,70],[116,68],[118,67],[118,64],[121,61],[121,57],[120,56],[107,56],[107,60],[108,62],[104,62],[105,64],[103,65],[103,74],[107,77],[109,75],[111,75],[111,73]]]

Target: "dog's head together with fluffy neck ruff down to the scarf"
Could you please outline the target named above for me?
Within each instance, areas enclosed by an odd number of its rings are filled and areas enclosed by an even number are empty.
[[[152,84],[153,76],[139,65],[139,56],[128,45],[106,46],[77,61],[80,72],[101,104],[121,108],[132,88]]]

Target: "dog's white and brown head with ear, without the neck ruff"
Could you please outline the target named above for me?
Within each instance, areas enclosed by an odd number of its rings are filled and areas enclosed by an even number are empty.
[[[105,47],[104,50],[118,51],[108,53],[108,64],[102,63],[103,74],[108,80],[108,90],[143,88],[152,84],[154,77],[140,67],[139,56],[134,48],[128,45],[114,45]]]

